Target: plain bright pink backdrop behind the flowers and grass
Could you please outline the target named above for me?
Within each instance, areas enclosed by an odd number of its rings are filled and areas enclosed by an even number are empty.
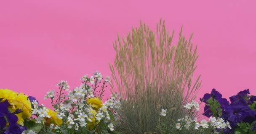
[[[224,97],[249,88],[256,94],[255,0],[1,0],[0,88],[43,95],[60,80],[71,88],[99,70],[110,75],[112,42],[140,20],[154,30],[194,32],[202,74],[198,97],[216,88]]]

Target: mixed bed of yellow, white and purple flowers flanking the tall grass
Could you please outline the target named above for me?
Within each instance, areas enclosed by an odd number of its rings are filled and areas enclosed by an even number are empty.
[[[12,90],[0,90],[0,131],[3,134],[122,134],[115,131],[123,122],[117,111],[120,95],[113,93],[102,103],[102,96],[110,80],[101,73],[81,78],[80,87],[69,91],[66,81],[59,82],[56,92],[45,95],[53,106],[46,108],[32,96]],[[100,88],[99,88],[100,87]],[[69,92],[68,92],[69,91]],[[203,119],[197,121],[195,113],[200,111],[199,103],[192,100],[184,106],[187,116],[177,121],[165,121],[172,109],[160,111],[161,134],[256,134],[256,96],[243,90],[231,96],[230,103],[215,89],[200,98],[205,103]],[[150,109],[149,109],[150,110]]]

